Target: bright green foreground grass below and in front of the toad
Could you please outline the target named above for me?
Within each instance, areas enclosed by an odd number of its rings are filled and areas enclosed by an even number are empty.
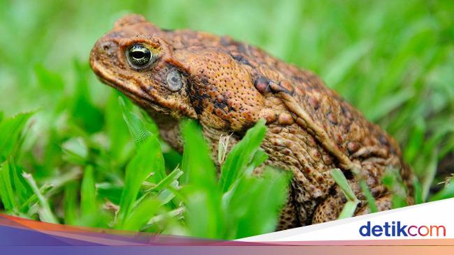
[[[222,165],[221,178],[211,160],[200,126],[195,121],[182,123],[184,153],[181,169],[167,169],[161,141],[156,133],[147,128],[140,115],[133,113],[119,98],[122,115],[136,149],[126,160],[124,174],[120,171],[116,179],[100,183],[96,179],[109,179],[101,169],[110,167],[102,156],[86,161],[87,151],[94,148],[80,148],[77,145],[63,150],[68,164],[82,169],[82,180],[75,175],[57,187],[47,183],[62,180],[43,180],[38,187],[31,173],[20,173],[13,159],[20,151],[20,132],[7,135],[11,127],[22,130],[31,114],[20,114],[5,118],[1,123],[0,142],[8,141],[12,146],[0,169],[0,198],[8,214],[43,222],[96,226],[129,231],[152,231],[179,233],[203,238],[233,239],[273,231],[279,210],[286,201],[286,189],[290,180],[287,173],[266,167],[263,176],[253,176],[251,169],[263,164],[268,158],[260,148],[266,131],[265,122],[259,121],[244,139],[233,146]],[[9,125],[8,125],[9,124]],[[81,144],[94,144],[88,138],[81,138]],[[94,144],[98,146],[98,144]],[[226,148],[224,148],[225,150]],[[196,153],[193,153],[196,151]],[[111,157],[111,150],[105,149],[105,157]],[[101,160],[97,162],[97,160]],[[106,160],[106,159],[104,159]],[[83,164],[81,166],[80,164]],[[123,168],[123,167],[120,167]],[[95,170],[100,170],[95,177]],[[235,173],[233,176],[231,173]],[[80,183],[80,188],[78,187]],[[101,186],[102,185],[102,186]],[[79,191],[80,190],[80,191]],[[60,213],[55,197],[64,193],[64,212]],[[270,199],[263,201],[263,196]],[[78,204],[78,201],[79,204]],[[52,210],[53,209],[53,210]]]

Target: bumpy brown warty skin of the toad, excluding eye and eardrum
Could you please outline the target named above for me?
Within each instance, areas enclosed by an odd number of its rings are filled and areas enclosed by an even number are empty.
[[[146,45],[155,58],[142,70],[126,59],[136,43]],[[366,181],[379,210],[390,208],[390,192],[381,183],[388,168],[400,172],[411,195],[412,174],[392,137],[312,72],[257,47],[210,33],[161,30],[140,15],[128,15],[96,42],[90,65],[101,81],[147,110],[163,139],[180,151],[177,123],[182,118],[200,122],[213,152],[221,135],[233,134],[235,144],[265,118],[266,164],[293,171],[279,229],[338,217],[346,198],[331,169],[342,169],[349,179],[361,201],[357,215],[369,212],[360,180]],[[182,77],[178,91],[168,89],[166,80],[175,70]]]

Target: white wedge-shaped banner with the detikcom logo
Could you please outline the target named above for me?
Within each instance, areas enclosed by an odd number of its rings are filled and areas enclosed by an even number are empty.
[[[249,242],[454,238],[454,199],[240,239]]]

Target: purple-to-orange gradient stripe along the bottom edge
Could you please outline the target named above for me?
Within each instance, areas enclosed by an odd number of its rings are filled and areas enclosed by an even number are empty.
[[[240,242],[66,226],[0,215],[0,254],[454,254],[454,239]],[[372,247],[373,246],[373,247]],[[28,249],[27,247],[34,249]],[[52,247],[52,249],[50,249]],[[103,247],[102,249],[100,249]],[[115,247],[115,249],[112,249]],[[74,253],[73,253],[74,252]],[[415,253],[416,252],[416,253]]]

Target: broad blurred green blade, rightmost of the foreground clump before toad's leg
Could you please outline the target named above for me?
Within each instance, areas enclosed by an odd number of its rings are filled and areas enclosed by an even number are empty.
[[[288,197],[290,179],[290,171],[265,167],[262,177],[244,175],[235,181],[223,196],[228,222],[221,238],[243,238],[274,231]]]

